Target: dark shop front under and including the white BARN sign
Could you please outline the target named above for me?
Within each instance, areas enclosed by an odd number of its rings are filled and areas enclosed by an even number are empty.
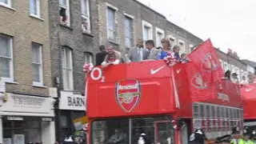
[[[58,138],[63,141],[71,135],[76,137],[78,127],[74,126],[78,118],[86,115],[86,100],[81,94],[74,94],[70,91],[61,91],[58,107]]]

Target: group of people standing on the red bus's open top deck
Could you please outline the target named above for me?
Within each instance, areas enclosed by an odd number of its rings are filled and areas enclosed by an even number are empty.
[[[175,60],[180,62],[188,62],[186,54],[180,55],[180,46],[171,46],[168,38],[162,39],[162,46],[155,47],[153,40],[146,41],[144,47],[143,39],[138,39],[136,46],[131,47],[127,54],[122,57],[122,54],[114,50],[113,46],[100,46],[100,53],[96,54],[96,66],[117,65],[123,62],[141,62],[145,60],[164,59],[168,54],[172,54]]]

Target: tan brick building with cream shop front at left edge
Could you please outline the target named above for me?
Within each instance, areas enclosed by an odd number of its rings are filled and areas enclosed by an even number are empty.
[[[55,141],[48,23],[47,0],[0,1],[0,143]]]

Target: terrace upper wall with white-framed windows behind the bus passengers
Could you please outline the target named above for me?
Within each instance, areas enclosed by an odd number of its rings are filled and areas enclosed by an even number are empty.
[[[189,53],[190,48],[202,42],[136,0],[98,1],[98,19],[99,43],[115,46],[122,54],[134,46],[138,38],[153,39],[156,46],[161,46],[161,39],[168,37],[173,46],[182,47],[182,53]]]

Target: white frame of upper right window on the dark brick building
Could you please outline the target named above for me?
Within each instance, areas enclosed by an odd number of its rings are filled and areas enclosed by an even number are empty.
[[[86,14],[83,14],[83,3],[85,3],[86,1]],[[83,33],[87,33],[87,34],[90,34],[91,33],[91,27],[90,27],[90,0],[81,0],[81,15],[82,15],[82,20],[83,19],[86,19],[87,20],[87,27],[88,27],[88,30],[84,30],[84,27],[82,26],[82,32]]]

